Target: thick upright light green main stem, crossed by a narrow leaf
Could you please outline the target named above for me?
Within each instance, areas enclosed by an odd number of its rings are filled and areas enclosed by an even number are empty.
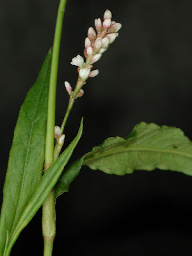
[[[45,170],[53,163],[54,157],[54,125],[56,109],[56,84],[58,76],[58,63],[60,54],[61,32],[64,9],[67,0],[60,0],[54,42],[52,47],[51,75],[49,81],[49,97],[47,109],[47,134],[45,144]],[[54,204],[54,190],[45,200],[42,207],[42,230],[44,236],[44,256],[52,255],[52,247],[56,234],[56,212]]]

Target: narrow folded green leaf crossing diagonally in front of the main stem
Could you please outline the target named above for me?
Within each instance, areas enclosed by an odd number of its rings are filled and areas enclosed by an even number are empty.
[[[77,143],[81,138],[82,131],[83,119],[81,120],[81,125],[79,127],[79,131],[77,133],[76,138],[74,138],[72,143],[70,143],[70,145],[60,155],[60,157],[58,157],[55,163],[53,163],[49,167],[49,169],[44,173],[42,179],[40,180],[40,183],[38,184],[38,188],[36,188],[36,191],[33,194],[33,197],[31,198],[28,205],[22,212],[22,215],[20,216],[20,219],[17,222],[17,226],[10,234],[9,243],[7,246],[7,250],[4,253],[4,256],[10,255],[12,246],[15,243],[20,232],[23,230],[24,227],[26,227],[26,225],[28,225],[29,221],[31,221],[35,213],[44,203],[45,199],[47,198],[52,188],[58,181],[61,173],[63,172],[63,168],[65,168],[65,165],[68,163],[68,160],[70,159],[70,156],[72,155],[74,148],[76,147]]]

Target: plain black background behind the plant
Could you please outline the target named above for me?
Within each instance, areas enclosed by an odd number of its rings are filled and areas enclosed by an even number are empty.
[[[20,104],[52,45],[59,1],[1,0],[1,197]],[[72,160],[109,136],[125,137],[141,121],[191,129],[191,0],[68,0],[61,41],[56,124],[76,83],[71,59],[106,8],[123,27],[96,63],[68,120],[66,144],[84,132]],[[58,198],[54,255],[191,255],[192,179],[182,173],[134,172],[115,177],[83,167]],[[42,255],[41,210],[11,255]]]

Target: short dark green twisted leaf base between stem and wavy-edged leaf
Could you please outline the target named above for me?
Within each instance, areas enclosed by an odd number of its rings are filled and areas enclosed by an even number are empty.
[[[54,187],[54,196],[55,199],[62,195],[65,192],[68,192],[68,188],[71,182],[76,179],[77,175],[81,170],[81,166],[83,165],[84,157],[72,163],[65,172],[61,174],[60,179],[58,180],[56,186]]]

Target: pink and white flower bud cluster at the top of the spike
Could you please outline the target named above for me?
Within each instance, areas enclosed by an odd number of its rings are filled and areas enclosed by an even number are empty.
[[[87,37],[84,40],[84,58],[81,55],[77,55],[72,59],[71,65],[77,66],[77,72],[79,73],[80,83],[78,83],[79,92],[77,97],[83,95],[81,87],[86,83],[88,77],[95,77],[99,74],[99,70],[92,70],[93,63],[97,62],[102,54],[108,49],[118,36],[118,31],[122,27],[122,24],[112,21],[112,14],[109,10],[104,12],[103,22],[100,18],[95,19],[95,30],[90,27],[88,29]],[[92,71],[91,71],[92,70]],[[77,85],[76,85],[77,86]],[[70,84],[65,81],[65,88],[69,95],[72,94],[72,88]]]

